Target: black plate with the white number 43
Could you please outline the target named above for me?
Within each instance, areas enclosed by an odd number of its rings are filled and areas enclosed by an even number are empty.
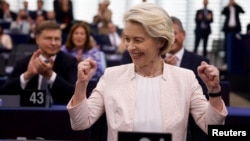
[[[20,95],[21,107],[46,107],[45,90],[24,90]]]

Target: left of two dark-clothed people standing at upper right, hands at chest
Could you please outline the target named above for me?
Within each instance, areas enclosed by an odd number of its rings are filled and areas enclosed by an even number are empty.
[[[194,53],[197,53],[197,49],[200,40],[203,40],[203,56],[207,56],[207,42],[209,34],[211,33],[210,24],[213,22],[213,12],[207,8],[208,0],[203,0],[204,7],[196,11],[195,16],[195,43]]]

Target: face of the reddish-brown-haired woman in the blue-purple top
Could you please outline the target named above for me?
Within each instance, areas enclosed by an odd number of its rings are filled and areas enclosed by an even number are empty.
[[[86,31],[83,27],[79,26],[75,29],[72,36],[75,47],[82,48],[86,42]]]

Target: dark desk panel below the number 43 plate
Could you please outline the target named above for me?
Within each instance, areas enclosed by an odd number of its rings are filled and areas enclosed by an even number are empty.
[[[26,137],[48,140],[87,140],[88,130],[73,131],[66,106],[0,108],[0,139]]]

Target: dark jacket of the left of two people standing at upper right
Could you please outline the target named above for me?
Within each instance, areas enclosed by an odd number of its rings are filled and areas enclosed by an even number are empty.
[[[198,15],[199,15],[200,13],[203,14],[203,18],[202,18],[202,19],[199,19],[199,18],[198,18]],[[198,34],[201,33],[201,32],[202,32],[202,33],[205,32],[207,35],[211,33],[211,26],[210,26],[210,24],[213,22],[213,12],[212,12],[211,10],[207,9],[207,13],[212,15],[212,18],[211,18],[210,20],[208,20],[208,19],[205,17],[204,12],[203,12],[203,9],[200,9],[200,10],[197,10],[197,11],[196,11],[196,16],[195,16],[195,23],[196,23],[195,32],[198,33]],[[207,28],[202,29],[202,28],[201,28],[201,24],[202,24],[202,23],[205,23],[206,26],[207,26]]]

